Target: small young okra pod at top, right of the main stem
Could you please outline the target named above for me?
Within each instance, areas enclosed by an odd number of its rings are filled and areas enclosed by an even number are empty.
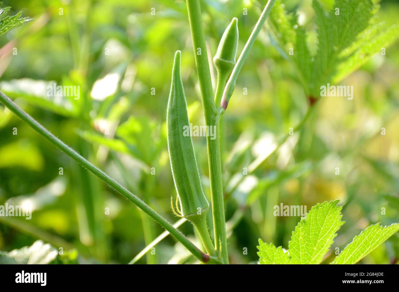
[[[213,63],[215,64],[219,76],[228,76],[231,71],[233,71],[235,56],[237,55],[237,47],[237,18],[233,18],[223,33],[219,46],[217,47],[216,55],[213,57]]]

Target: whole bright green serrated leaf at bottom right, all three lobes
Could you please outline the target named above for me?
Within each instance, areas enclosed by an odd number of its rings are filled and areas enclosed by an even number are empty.
[[[310,209],[292,233],[288,252],[282,247],[263,243],[259,239],[260,264],[320,264],[333,243],[336,232],[345,222],[341,221],[338,200],[317,204]],[[355,264],[399,231],[399,223],[388,227],[371,225],[356,236],[332,264]]]

